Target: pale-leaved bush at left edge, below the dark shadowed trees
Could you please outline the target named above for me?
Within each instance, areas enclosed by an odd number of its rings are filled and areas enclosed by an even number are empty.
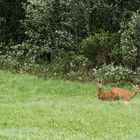
[[[33,46],[32,46],[33,47]],[[5,48],[5,49],[3,49]],[[34,72],[37,70],[37,51],[27,43],[0,45],[0,67],[11,71]]]

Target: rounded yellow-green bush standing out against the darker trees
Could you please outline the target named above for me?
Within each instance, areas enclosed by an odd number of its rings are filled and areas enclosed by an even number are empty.
[[[94,63],[95,66],[110,64],[113,60],[113,49],[118,47],[118,34],[101,32],[89,36],[83,41],[82,48],[85,55]]]

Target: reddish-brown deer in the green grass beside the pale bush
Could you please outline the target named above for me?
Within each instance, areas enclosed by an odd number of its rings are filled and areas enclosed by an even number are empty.
[[[130,101],[132,100],[137,93],[140,93],[140,88],[138,85],[132,85],[135,93],[129,93],[128,91],[124,90],[123,88],[113,88],[109,91],[102,91],[102,82],[99,81],[97,83],[98,87],[98,98],[103,101],[116,101],[116,100],[124,100],[124,101]]]

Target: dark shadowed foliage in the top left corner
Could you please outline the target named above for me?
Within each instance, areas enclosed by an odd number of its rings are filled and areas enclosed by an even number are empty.
[[[11,40],[16,43],[24,40],[20,20],[25,18],[22,4],[26,2],[26,0],[0,0],[0,42],[7,44]]]

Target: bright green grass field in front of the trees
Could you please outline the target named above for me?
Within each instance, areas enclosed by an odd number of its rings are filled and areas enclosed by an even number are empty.
[[[139,140],[140,95],[102,102],[94,83],[0,71],[0,139]]]

